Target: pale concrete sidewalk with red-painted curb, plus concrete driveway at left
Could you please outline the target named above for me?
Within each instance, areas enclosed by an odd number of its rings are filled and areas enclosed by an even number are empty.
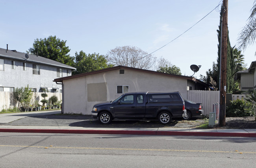
[[[0,114],[0,123],[9,123],[20,118],[36,115],[58,114],[59,111]],[[70,134],[123,134],[123,135],[183,135],[216,137],[256,137],[256,129],[188,129],[188,128],[113,128],[74,126],[14,126],[0,125],[0,132],[19,133],[70,133]]]

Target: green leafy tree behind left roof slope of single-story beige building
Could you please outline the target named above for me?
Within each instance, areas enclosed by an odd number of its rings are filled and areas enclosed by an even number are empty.
[[[107,58],[104,55],[96,53],[87,55],[83,51],[76,52],[75,55],[74,67],[76,71],[72,72],[73,74],[91,72],[113,66],[112,64],[108,64]]]

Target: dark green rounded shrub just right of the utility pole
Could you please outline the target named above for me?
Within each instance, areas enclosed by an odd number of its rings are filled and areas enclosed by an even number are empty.
[[[245,107],[248,105],[248,102],[245,100],[234,100],[230,101],[230,105],[226,108],[226,117],[243,117],[250,116],[249,113],[246,113]]]

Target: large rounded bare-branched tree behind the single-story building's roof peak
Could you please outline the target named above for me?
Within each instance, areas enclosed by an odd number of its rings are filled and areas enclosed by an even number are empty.
[[[115,65],[133,68],[150,69],[156,62],[156,57],[134,46],[116,47],[108,52],[108,61]]]

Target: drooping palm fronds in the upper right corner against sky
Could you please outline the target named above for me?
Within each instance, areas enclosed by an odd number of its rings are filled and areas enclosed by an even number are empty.
[[[239,49],[243,48],[243,50],[245,50],[245,48],[250,44],[254,44],[256,39],[256,0],[254,0],[254,5],[250,12],[251,14],[248,18],[248,23],[245,25],[238,37]]]

